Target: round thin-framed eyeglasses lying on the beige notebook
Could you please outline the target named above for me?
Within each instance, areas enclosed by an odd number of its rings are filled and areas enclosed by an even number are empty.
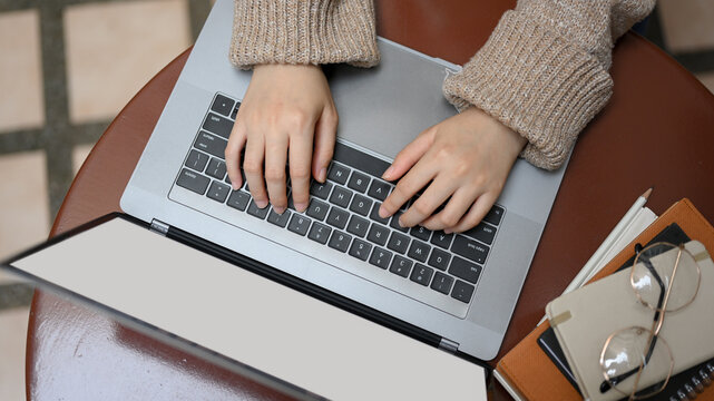
[[[637,300],[654,311],[652,325],[649,329],[629,326],[612,333],[600,352],[605,378],[600,392],[615,389],[629,400],[655,395],[667,385],[674,356],[659,335],[665,312],[689,305],[696,297],[702,277],[695,257],[683,244],[655,243],[639,248],[638,245],[629,282]],[[640,383],[653,379],[657,381],[655,384],[640,389]]]

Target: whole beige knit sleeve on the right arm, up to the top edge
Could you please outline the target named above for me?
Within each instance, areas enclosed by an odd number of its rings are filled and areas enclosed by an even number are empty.
[[[487,43],[444,82],[457,108],[471,105],[518,131],[521,157],[558,168],[613,91],[615,40],[655,0],[520,0]]]

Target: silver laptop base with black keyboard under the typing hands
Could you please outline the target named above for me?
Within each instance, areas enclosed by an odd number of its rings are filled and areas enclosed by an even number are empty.
[[[232,18],[233,1],[216,1],[121,208],[447,351],[493,359],[565,166],[551,173],[518,160],[497,205],[464,234],[380,218],[375,211],[393,188],[381,174],[420,131],[456,114],[441,86],[459,69],[380,39],[378,67],[326,69],[338,145],[327,183],[311,187],[309,209],[258,209],[247,188],[231,190],[223,160],[251,79],[228,61]]]

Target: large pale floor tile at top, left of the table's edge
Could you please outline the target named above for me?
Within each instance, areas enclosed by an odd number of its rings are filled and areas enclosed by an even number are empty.
[[[190,42],[185,0],[71,6],[63,23],[74,124],[115,117]]]

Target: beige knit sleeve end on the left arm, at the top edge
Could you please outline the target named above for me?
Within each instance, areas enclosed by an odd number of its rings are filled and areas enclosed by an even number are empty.
[[[235,0],[231,61],[379,62],[372,0]]]

